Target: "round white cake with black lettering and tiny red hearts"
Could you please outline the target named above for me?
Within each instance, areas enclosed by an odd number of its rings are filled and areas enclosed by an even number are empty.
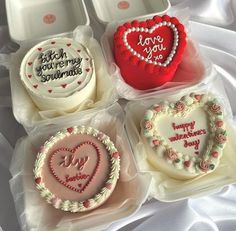
[[[96,77],[89,50],[70,38],[43,41],[21,63],[21,81],[40,110],[72,111],[94,99]]]

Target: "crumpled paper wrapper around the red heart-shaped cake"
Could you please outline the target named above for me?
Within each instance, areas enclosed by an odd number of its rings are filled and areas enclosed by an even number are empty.
[[[179,12],[168,12],[168,15],[176,16],[181,23],[185,25],[187,31],[188,26],[188,11],[180,10]],[[142,21],[143,19],[141,19]],[[137,90],[129,86],[122,78],[120,69],[116,65],[113,55],[113,35],[119,25],[124,22],[113,22],[108,24],[106,31],[101,38],[101,44],[107,63],[109,64],[109,73],[112,77],[116,90],[121,98],[127,100],[140,100],[142,98],[152,97],[162,92],[173,92],[178,89],[183,89],[194,84],[206,82],[209,80],[209,72],[211,71],[210,61],[200,54],[200,49],[196,42],[191,39],[190,33],[187,37],[187,46],[183,55],[183,59],[179,64],[174,78],[171,82],[150,90]]]

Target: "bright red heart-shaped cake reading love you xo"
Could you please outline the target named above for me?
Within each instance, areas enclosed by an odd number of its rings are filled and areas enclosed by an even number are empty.
[[[175,17],[127,22],[114,35],[114,54],[124,81],[145,90],[174,77],[186,46],[184,26]]]

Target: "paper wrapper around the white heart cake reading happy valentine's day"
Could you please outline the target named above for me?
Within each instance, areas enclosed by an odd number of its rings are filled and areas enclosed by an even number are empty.
[[[177,201],[189,197],[207,195],[219,191],[223,186],[236,182],[234,174],[236,168],[235,151],[236,144],[234,137],[236,135],[236,124],[232,120],[232,112],[226,93],[222,88],[223,84],[217,72],[215,79],[208,85],[202,87],[192,87],[190,89],[180,90],[178,92],[155,97],[139,102],[130,102],[125,108],[126,111],[126,130],[130,139],[131,147],[141,172],[149,172],[153,176],[150,186],[150,196],[161,201]],[[147,161],[147,154],[144,143],[140,136],[140,122],[143,119],[145,111],[153,104],[164,100],[176,101],[183,95],[191,92],[210,93],[220,99],[224,105],[226,130],[228,141],[223,151],[223,156],[215,171],[201,177],[195,177],[190,180],[176,180],[163,172],[158,171]]]

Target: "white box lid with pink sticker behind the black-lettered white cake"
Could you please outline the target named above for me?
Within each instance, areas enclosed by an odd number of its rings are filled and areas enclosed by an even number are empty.
[[[6,10],[10,36],[17,43],[89,24],[84,0],[7,0]]]

